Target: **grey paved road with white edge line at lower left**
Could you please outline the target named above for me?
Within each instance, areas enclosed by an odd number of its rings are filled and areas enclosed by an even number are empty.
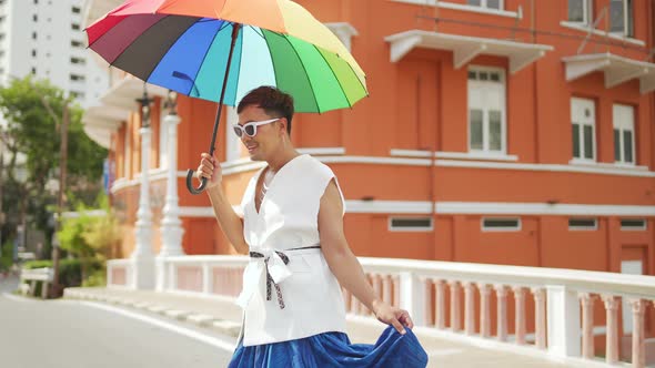
[[[235,339],[215,330],[84,300],[8,294],[0,280],[0,366],[225,367]]]

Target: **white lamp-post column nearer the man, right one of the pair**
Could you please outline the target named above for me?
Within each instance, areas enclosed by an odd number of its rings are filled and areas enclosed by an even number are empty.
[[[178,197],[178,124],[180,116],[169,113],[163,123],[168,129],[168,172],[167,172],[167,197],[161,221],[162,247],[157,256],[157,289],[163,290],[165,285],[165,267],[163,258],[169,256],[184,255],[182,249],[182,221],[180,219],[180,206]]]

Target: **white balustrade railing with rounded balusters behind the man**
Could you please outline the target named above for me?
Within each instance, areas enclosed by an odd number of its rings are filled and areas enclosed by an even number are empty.
[[[164,258],[159,289],[235,298],[248,259]],[[551,358],[628,361],[634,367],[655,362],[654,276],[415,259],[360,262],[377,296],[407,309],[417,326]],[[349,314],[372,317],[347,290],[343,294]]]

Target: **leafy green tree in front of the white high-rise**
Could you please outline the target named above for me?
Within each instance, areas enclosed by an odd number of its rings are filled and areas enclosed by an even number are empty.
[[[36,223],[49,238],[52,234],[49,219],[51,206],[57,201],[46,184],[59,177],[59,129],[64,106],[70,112],[64,187],[89,203],[102,188],[100,176],[107,150],[84,134],[82,110],[48,81],[34,81],[30,76],[12,80],[9,85],[0,88],[0,113],[7,121],[0,137],[4,155],[9,157],[2,175],[2,207],[8,214],[2,238],[13,235],[16,226],[28,221]],[[17,159],[20,154],[27,157],[24,167],[19,167]],[[24,181],[17,177],[21,168],[27,177]]]

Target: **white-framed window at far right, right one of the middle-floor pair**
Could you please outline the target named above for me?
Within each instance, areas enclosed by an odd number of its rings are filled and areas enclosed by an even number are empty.
[[[635,110],[633,106],[615,104],[612,120],[614,122],[614,161],[635,164]]]

